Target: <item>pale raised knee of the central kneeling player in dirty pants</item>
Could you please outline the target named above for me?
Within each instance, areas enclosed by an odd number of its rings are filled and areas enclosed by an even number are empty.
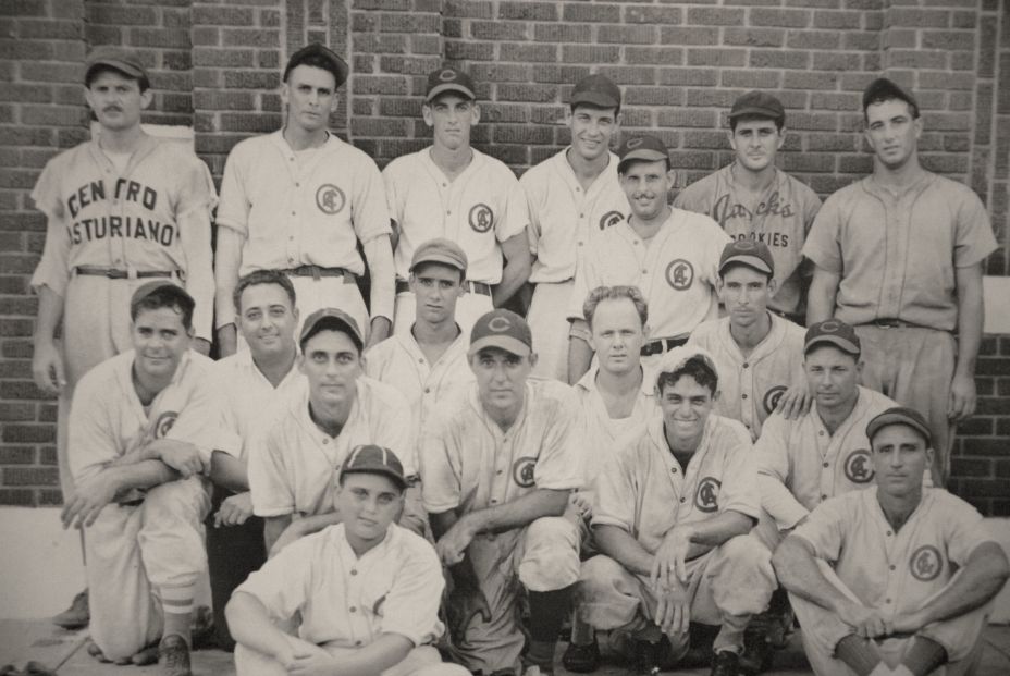
[[[564,589],[579,579],[579,534],[559,516],[535,519],[524,536],[519,581],[530,591]]]

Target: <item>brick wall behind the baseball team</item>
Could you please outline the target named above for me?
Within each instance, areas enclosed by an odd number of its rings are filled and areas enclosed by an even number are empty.
[[[468,70],[483,100],[475,144],[517,172],[568,140],[571,84],[603,72],[624,127],[670,147],[678,186],[727,163],[725,113],[775,90],[792,133],[781,167],[827,195],[866,172],[860,91],[880,73],[922,103],[924,163],[986,200],[1007,241],[1010,10],[1001,0],[0,0],[0,504],[57,503],[54,407],[30,382],[27,278],[45,223],[28,192],[45,161],[87,136],[77,83],[90,45],[138,48],[158,89],[147,120],[193,125],[220,177],[227,151],[282,122],[280,69],[307,40],[352,65],[331,126],[380,165],[429,143],[424,75]],[[999,133],[998,130],[1003,130]],[[987,262],[1010,273],[1007,247]],[[989,307],[989,312],[1010,308]],[[1010,515],[1010,336],[988,336],[978,416],[961,430],[952,488]]]

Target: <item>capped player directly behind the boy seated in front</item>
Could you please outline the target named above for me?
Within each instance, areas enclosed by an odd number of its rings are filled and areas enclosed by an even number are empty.
[[[336,308],[317,310],[301,325],[298,368],[308,386],[285,401],[281,416],[249,451],[253,514],[266,519],[271,555],[340,523],[333,479],[355,446],[392,448],[404,458],[407,476],[417,476],[410,407],[393,388],[362,376],[364,345],[355,319]],[[421,530],[415,516],[409,523]]]

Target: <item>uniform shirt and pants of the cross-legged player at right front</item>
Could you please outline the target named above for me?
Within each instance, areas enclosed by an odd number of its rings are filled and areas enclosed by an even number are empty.
[[[994,540],[974,507],[933,488],[923,490],[922,502],[895,531],[880,508],[878,491],[872,487],[828,500],[793,532],[813,548],[832,583],[889,622],[900,613],[922,609],[950,583],[976,546]],[[803,625],[803,648],[814,672],[851,675],[834,652],[838,641],[853,632],[852,627],[810,601],[789,598]],[[970,657],[978,648],[988,612],[984,605],[919,631],[947,651],[947,674],[972,666]],[[889,637],[877,646],[884,655],[900,659],[912,638]]]

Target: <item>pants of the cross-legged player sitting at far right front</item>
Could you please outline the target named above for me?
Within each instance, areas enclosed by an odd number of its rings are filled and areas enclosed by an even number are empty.
[[[829,583],[852,601],[862,603],[826,562],[818,560],[817,567]],[[940,593],[943,590],[936,592],[933,598]],[[927,599],[923,603],[931,600]],[[817,676],[855,676],[855,672],[845,662],[835,657],[836,646],[853,632],[852,627],[841,622],[835,613],[796,594],[790,593],[789,601],[800,620],[803,650],[814,673]],[[922,636],[933,639],[947,651],[948,663],[933,672],[935,676],[961,676],[974,672],[982,659],[982,631],[985,629],[989,611],[987,604],[960,617],[934,623],[920,631]],[[896,665],[913,639],[914,637],[887,638],[875,642],[885,662]]]

